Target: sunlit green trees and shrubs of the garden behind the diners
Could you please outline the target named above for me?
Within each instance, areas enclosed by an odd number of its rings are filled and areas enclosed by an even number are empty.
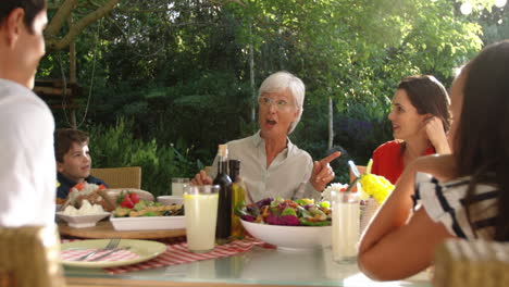
[[[219,144],[257,130],[257,89],[286,70],[306,84],[290,139],[321,159],[333,150],[365,164],[392,139],[397,83],[455,68],[509,38],[505,0],[53,0],[38,79],[70,80],[77,128],[91,136],[94,167],[140,165],[142,189],[210,165]],[[470,11],[469,11],[470,9]],[[65,10],[69,10],[69,13]],[[87,20],[87,21],[84,21]],[[78,28],[76,28],[76,26]],[[74,48],[73,47],[73,48]],[[62,96],[57,127],[74,123]],[[63,109],[62,109],[63,108]]]

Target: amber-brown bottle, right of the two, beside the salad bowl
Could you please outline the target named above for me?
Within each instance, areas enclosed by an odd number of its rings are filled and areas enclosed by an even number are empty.
[[[241,209],[246,201],[246,191],[244,190],[244,185],[241,184],[240,178],[240,161],[239,160],[229,160],[229,178],[232,178],[232,239],[243,239],[244,238],[244,227],[240,222],[240,216],[235,213],[236,209]]]

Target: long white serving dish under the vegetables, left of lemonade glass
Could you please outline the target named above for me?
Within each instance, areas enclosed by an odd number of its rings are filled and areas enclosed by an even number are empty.
[[[139,216],[113,217],[110,222],[115,230],[167,230],[186,228],[186,217],[182,216]]]

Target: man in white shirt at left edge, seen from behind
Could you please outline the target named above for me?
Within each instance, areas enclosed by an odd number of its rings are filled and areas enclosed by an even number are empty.
[[[54,121],[32,89],[45,0],[0,1],[0,227],[54,225]]]

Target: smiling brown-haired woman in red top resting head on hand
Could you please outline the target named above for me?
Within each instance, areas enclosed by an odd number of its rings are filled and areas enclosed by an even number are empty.
[[[450,127],[450,99],[433,76],[402,79],[393,98],[388,118],[395,140],[373,152],[371,173],[395,184],[405,166],[414,159],[432,153],[450,153],[446,133]]]

